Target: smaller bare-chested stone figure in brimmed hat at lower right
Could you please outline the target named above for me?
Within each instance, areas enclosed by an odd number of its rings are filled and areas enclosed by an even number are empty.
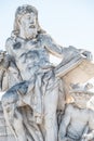
[[[93,141],[94,140],[94,92],[75,88],[62,119],[58,141]],[[71,101],[72,100],[72,101]]]

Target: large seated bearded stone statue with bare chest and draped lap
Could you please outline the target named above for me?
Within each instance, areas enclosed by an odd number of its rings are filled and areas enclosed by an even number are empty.
[[[16,141],[57,141],[57,111],[65,108],[65,85],[59,74],[66,74],[65,65],[68,72],[76,61],[91,60],[91,52],[58,46],[40,27],[32,5],[17,8],[5,49],[5,55],[0,53],[0,87],[6,90],[1,102]],[[58,66],[50,63],[50,53],[63,60]]]

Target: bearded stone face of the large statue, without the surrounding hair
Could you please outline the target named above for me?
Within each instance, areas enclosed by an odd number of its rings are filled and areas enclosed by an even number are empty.
[[[35,13],[26,13],[19,20],[21,33],[25,38],[35,38],[37,36],[37,20]]]

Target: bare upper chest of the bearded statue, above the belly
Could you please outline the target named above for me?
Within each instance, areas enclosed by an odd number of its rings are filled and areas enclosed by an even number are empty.
[[[37,60],[49,62],[49,52],[41,40],[17,41],[13,46],[13,52],[17,64],[25,65],[28,62],[31,64],[35,53],[37,53]]]

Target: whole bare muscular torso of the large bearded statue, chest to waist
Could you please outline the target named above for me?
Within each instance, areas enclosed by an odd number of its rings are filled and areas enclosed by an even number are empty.
[[[28,80],[40,69],[50,64],[49,52],[44,47],[44,41],[38,40],[22,40],[16,41],[11,47],[13,57],[22,74],[23,79]]]

